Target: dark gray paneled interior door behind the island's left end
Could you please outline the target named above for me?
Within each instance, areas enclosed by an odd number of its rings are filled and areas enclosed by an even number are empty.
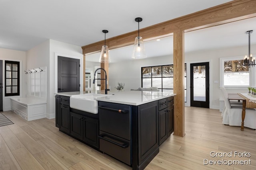
[[[58,92],[80,91],[80,60],[58,56]]]

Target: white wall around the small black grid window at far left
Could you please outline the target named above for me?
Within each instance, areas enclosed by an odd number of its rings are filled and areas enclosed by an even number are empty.
[[[9,60],[20,62],[20,96],[24,97],[26,95],[26,86],[24,86],[26,83],[24,78],[24,70],[26,70],[26,52],[0,48],[0,60],[3,61],[3,111],[7,111],[11,109],[11,97],[4,97],[4,61]]]

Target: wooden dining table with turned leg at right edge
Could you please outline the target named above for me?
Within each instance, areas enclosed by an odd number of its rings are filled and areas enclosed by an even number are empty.
[[[256,98],[253,99],[252,96],[249,96],[246,93],[229,93],[229,100],[238,100],[242,101],[242,122],[241,122],[241,131],[244,131],[244,118],[246,113],[246,108],[256,108]]]

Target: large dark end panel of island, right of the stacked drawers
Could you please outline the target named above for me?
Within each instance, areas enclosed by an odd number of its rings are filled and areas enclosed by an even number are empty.
[[[138,106],[138,162],[159,147],[158,102]]]

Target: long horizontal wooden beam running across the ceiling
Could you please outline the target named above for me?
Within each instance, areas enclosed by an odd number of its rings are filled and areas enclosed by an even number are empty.
[[[181,30],[193,30],[193,28],[203,28],[216,26],[232,21],[256,16],[256,0],[234,0],[206,10],[195,12],[180,18],[165,21],[140,29],[140,35],[144,41],[154,39],[154,37],[165,37],[173,32]],[[132,31],[123,35],[106,39],[109,49],[132,45],[138,31]],[[104,41],[92,43],[82,47],[83,54],[99,52]]]

